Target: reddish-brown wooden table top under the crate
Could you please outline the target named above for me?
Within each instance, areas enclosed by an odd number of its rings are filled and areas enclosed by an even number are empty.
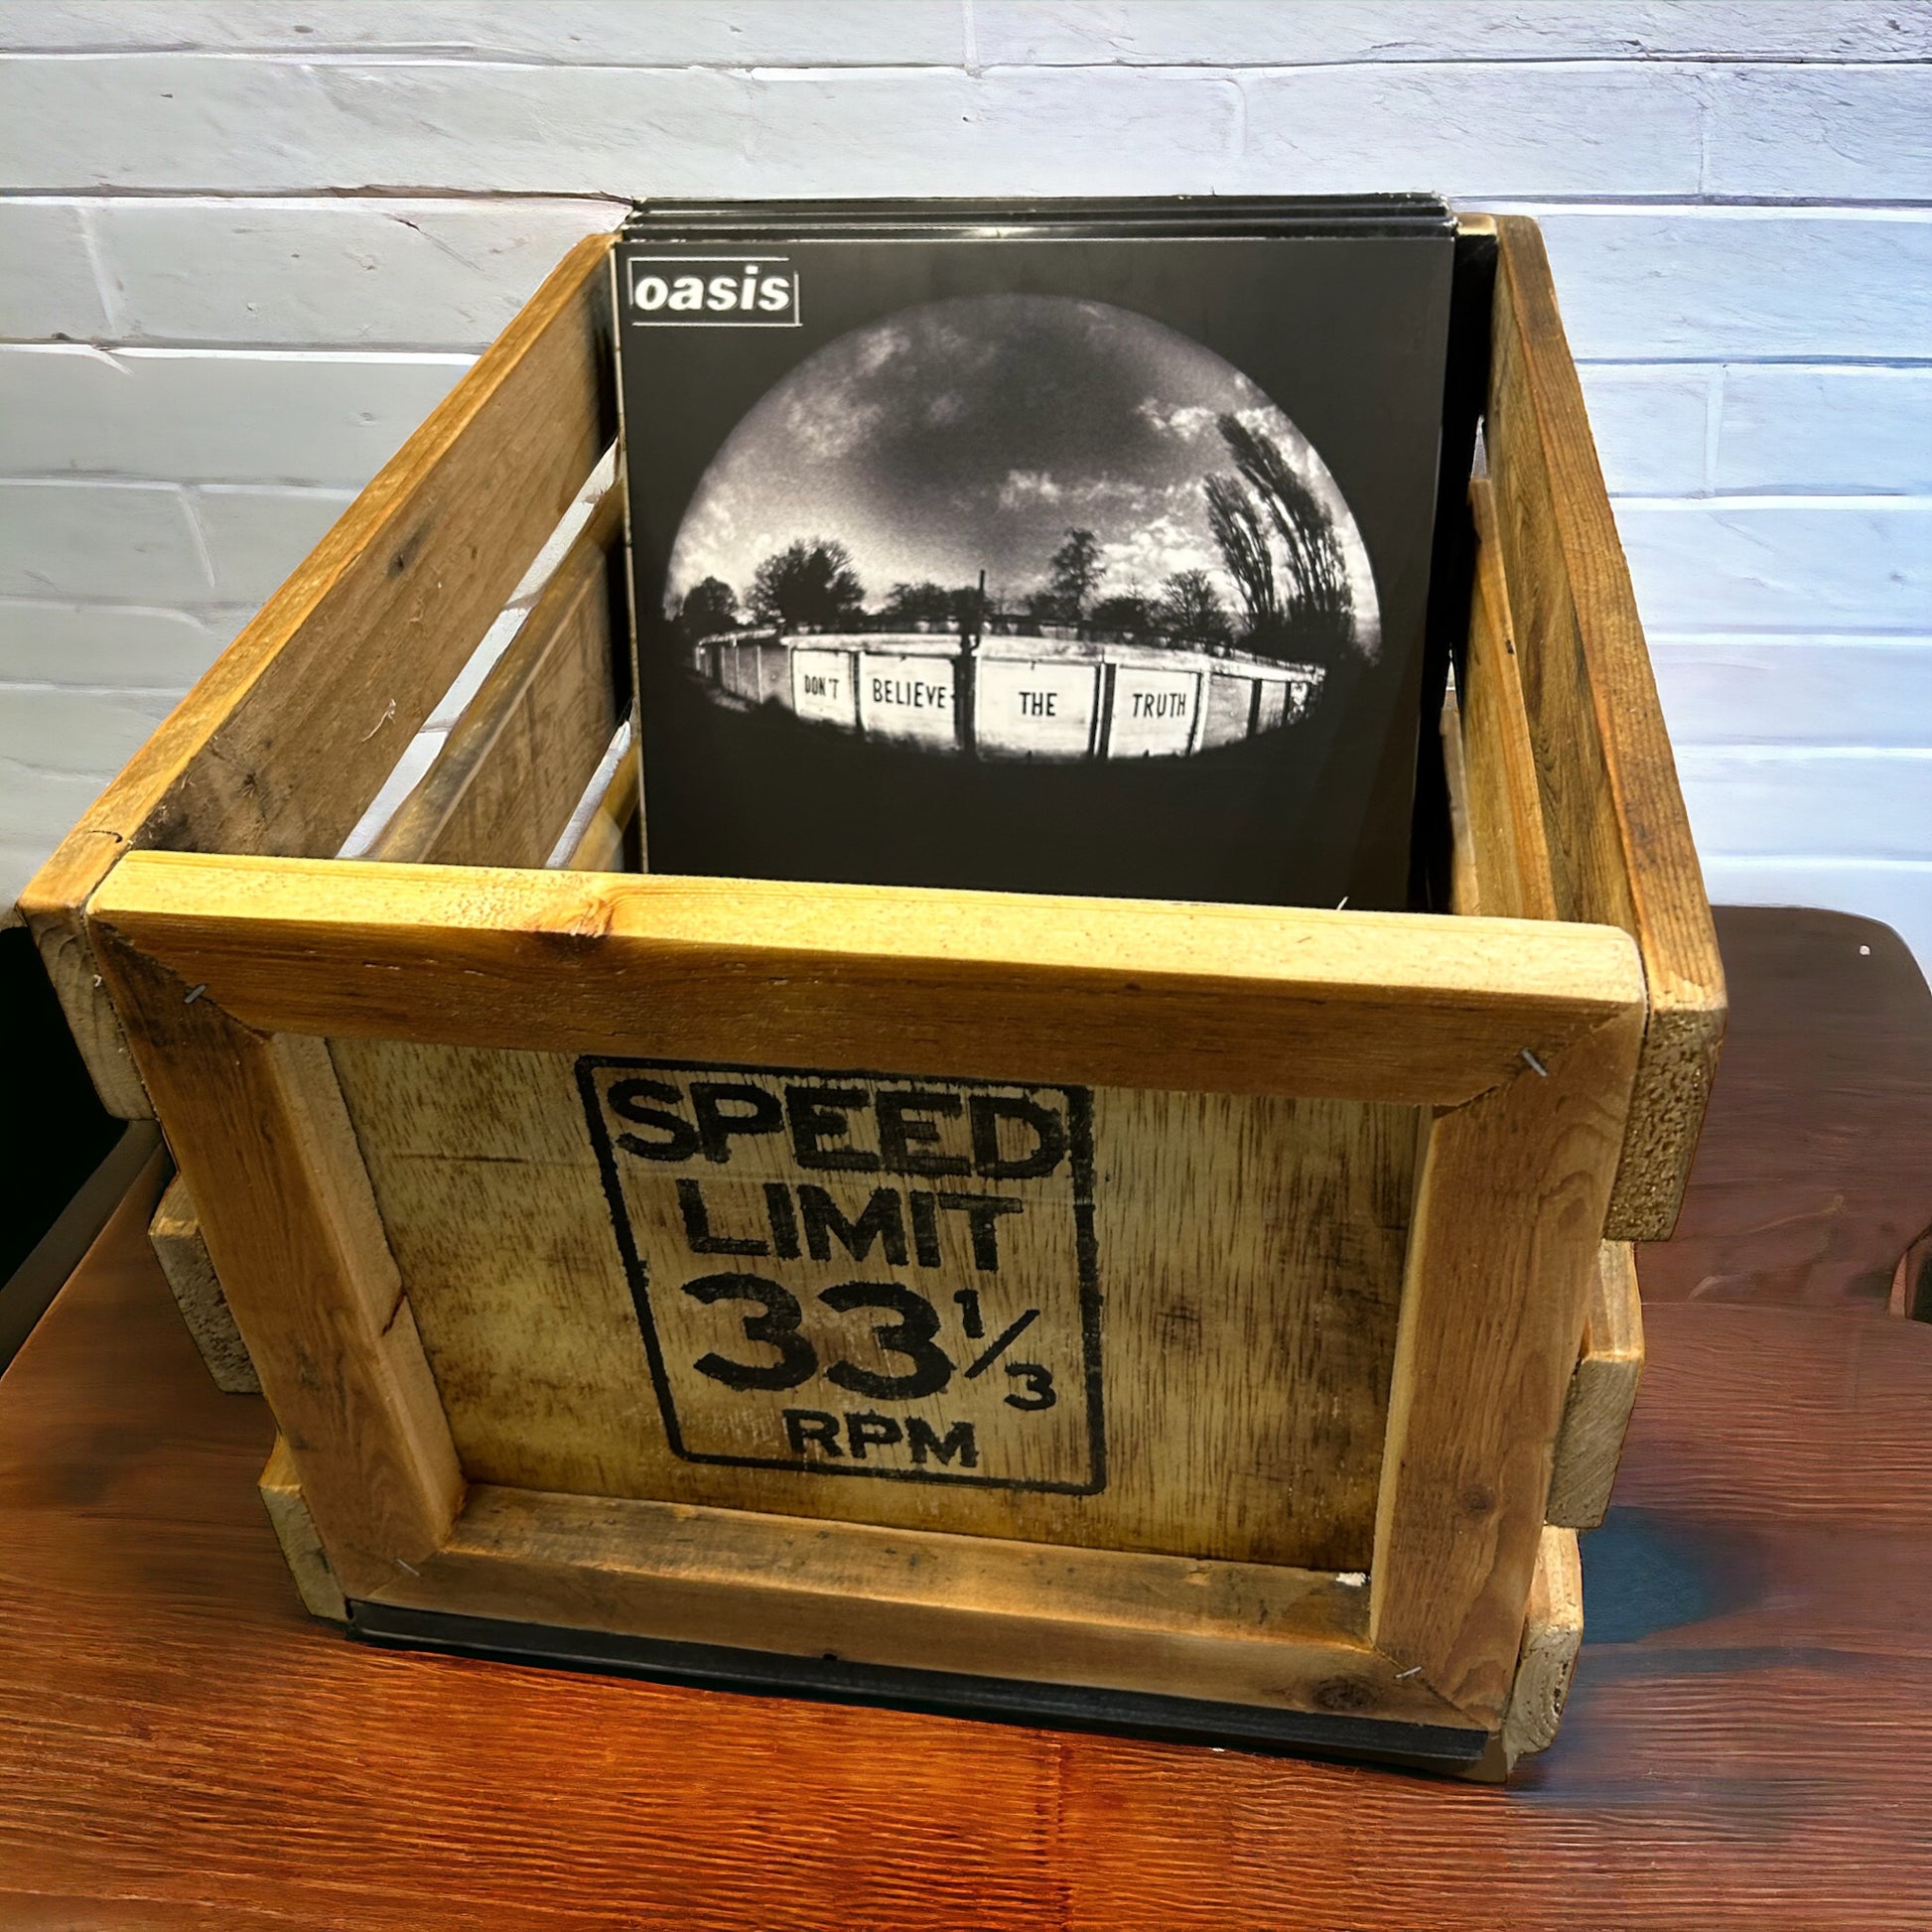
[[[1924,1932],[1932,1325],[1882,1277],[1932,1221],[1932,1003],[1884,927],[1719,933],[1584,1654],[1511,1787],[350,1644],[151,1186],[0,1379],[0,1926]]]

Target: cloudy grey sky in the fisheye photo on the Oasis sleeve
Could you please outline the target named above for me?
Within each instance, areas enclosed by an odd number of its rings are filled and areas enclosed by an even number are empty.
[[[1374,655],[1374,574],[1306,437],[1238,369],[1126,309],[1066,296],[966,296],[902,309],[817,350],[713,458],[678,531],[668,609],[703,578],[748,593],[802,539],[837,539],[871,607],[895,583],[987,583],[1024,603],[1068,527],[1092,529],[1097,595],[1209,576],[1240,607],[1206,481],[1235,469],[1223,419],[1279,450],[1327,516]]]

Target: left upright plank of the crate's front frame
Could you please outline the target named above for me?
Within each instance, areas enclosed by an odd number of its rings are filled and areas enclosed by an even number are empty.
[[[442,1542],[464,1478],[328,1049],[126,947],[100,964],[336,1575],[369,1588]]]

